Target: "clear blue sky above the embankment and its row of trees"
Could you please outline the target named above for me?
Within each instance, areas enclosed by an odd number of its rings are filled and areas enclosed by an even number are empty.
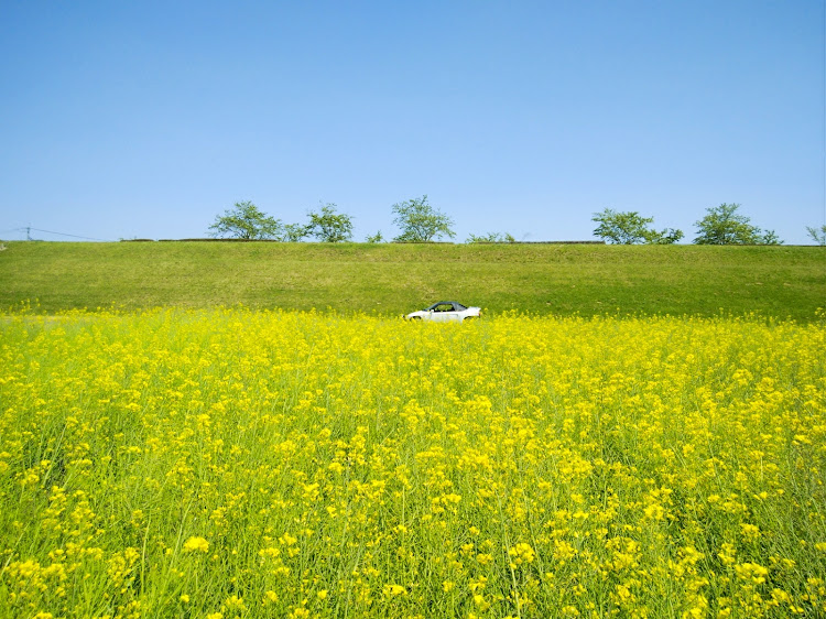
[[[457,241],[826,222],[824,0],[0,0],[0,58],[4,239],[204,237],[247,199],[392,237],[423,194]]]

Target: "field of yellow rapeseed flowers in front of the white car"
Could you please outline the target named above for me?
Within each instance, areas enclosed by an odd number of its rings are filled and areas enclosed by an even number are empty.
[[[0,617],[826,615],[823,322],[0,319]]]

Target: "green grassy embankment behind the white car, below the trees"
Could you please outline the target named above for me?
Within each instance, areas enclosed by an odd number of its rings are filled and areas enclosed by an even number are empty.
[[[818,247],[9,242],[0,310],[243,304],[401,314],[438,300],[537,314],[746,314],[811,321]]]

